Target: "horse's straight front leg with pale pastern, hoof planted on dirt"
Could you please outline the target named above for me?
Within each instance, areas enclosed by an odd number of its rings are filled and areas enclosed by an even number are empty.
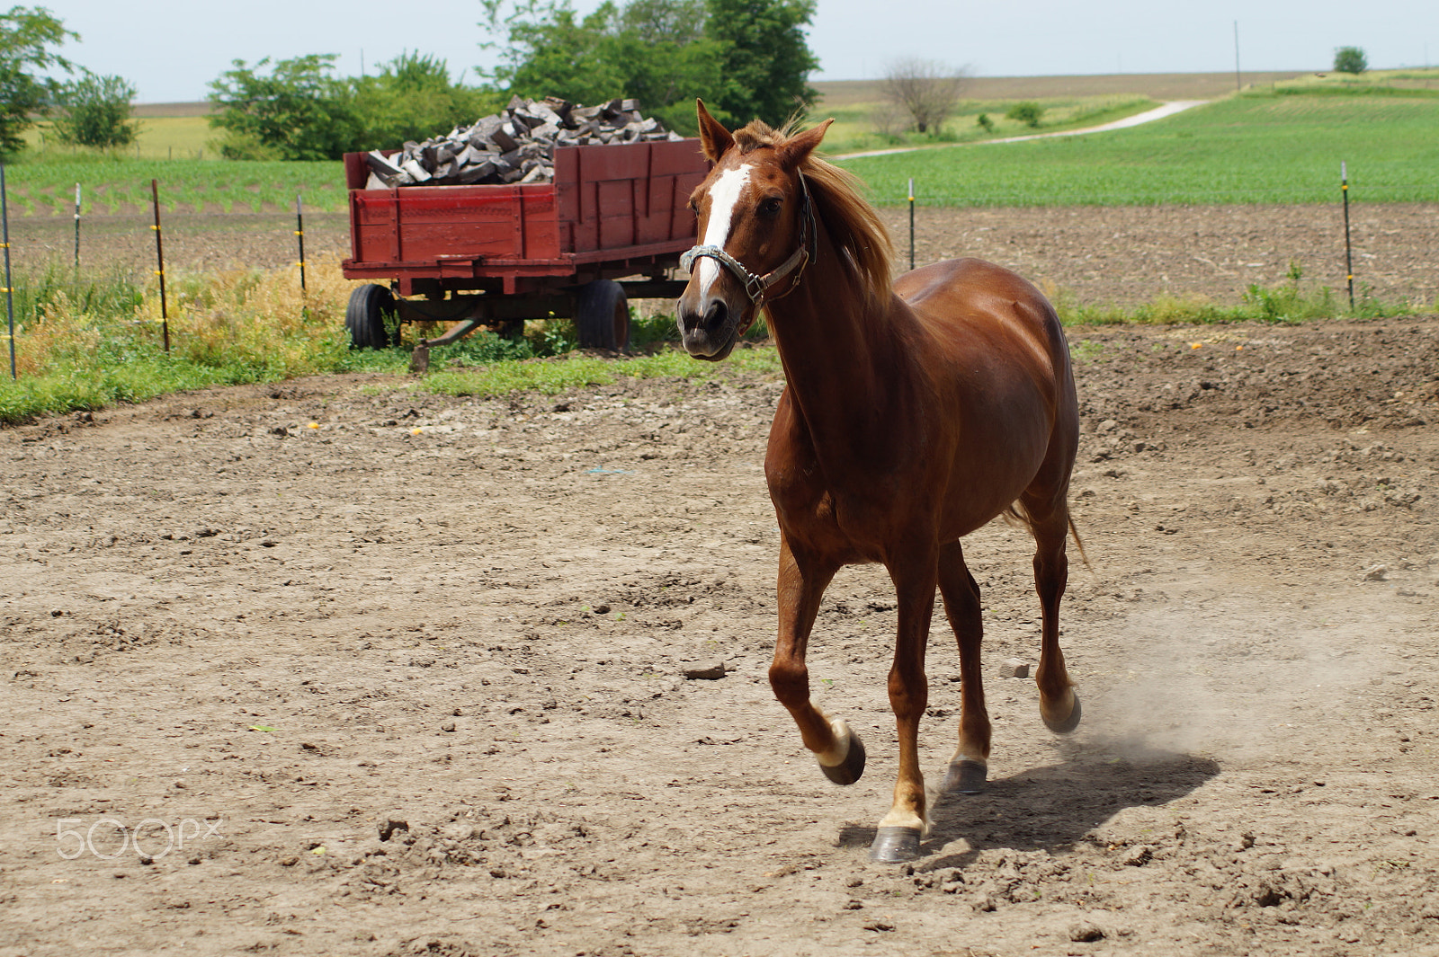
[[[920,856],[920,839],[930,829],[924,775],[920,773],[920,718],[930,701],[924,651],[934,614],[935,558],[934,549],[920,549],[907,556],[902,565],[889,566],[899,606],[899,634],[889,668],[889,707],[899,731],[899,776],[895,780],[894,803],[879,820],[879,831],[869,848],[873,861],[915,859]]]

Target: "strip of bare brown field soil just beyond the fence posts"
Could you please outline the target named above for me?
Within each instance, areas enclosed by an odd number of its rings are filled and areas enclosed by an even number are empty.
[[[908,210],[882,210],[909,259]],[[86,220],[81,257],[144,276],[155,246],[142,214]],[[275,269],[298,259],[289,213],[174,213],[164,217],[167,272]],[[63,217],[12,224],[22,273],[46,260],[69,263],[73,223]],[[1366,204],[1351,208],[1356,290],[1389,303],[1433,310],[1439,299],[1439,205]],[[348,256],[342,213],[305,216],[305,259]],[[1305,287],[1344,290],[1344,214],[1331,205],[1075,207],[1058,210],[931,208],[915,214],[915,262],[980,256],[1016,269],[1050,296],[1091,305],[1137,305],[1161,293],[1239,302],[1250,283],[1285,280],[1289,264]]]

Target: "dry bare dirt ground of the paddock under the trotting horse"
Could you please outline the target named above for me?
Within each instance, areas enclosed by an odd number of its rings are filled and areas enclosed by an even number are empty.
[[[766,681],[778,381],[0,431],[0,956],[1439,954],[1439,320],[1071,343],[1084,724],[1002,677],[1029,543],[976,533],[991,786],[904,866],[882,570],[812,642],[859,783]],[[943,627],[928,674],[932,787]]]

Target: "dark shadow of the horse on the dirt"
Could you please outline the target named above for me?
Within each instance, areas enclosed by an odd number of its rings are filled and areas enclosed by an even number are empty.
[[[980,795],[940,793],[930,808],[931,831],[920,845],[934,855],[964,839],[961,854],[921,858],[917,869],[963,868],[986,848],[1059,852],[1125,808],[1164,805],[1219,773],[1207,757],[1145,752],[1135,757],[1073,753],[1059,764],[1033,767],[989,782]],[[846,825],[840,846],[869,846],[875,828]]]

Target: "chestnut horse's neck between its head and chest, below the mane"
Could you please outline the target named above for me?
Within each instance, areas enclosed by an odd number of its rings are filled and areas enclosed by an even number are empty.
[[[901,348],[912,313],[888,287],[866,295],[842,256],[822,228],[800,286],[768,306],[791,398],[822,457],[826,445],[845,456],[863,445],[868,428],[884,428],[876,412],[899,398],[895,389],[917,385]]]

